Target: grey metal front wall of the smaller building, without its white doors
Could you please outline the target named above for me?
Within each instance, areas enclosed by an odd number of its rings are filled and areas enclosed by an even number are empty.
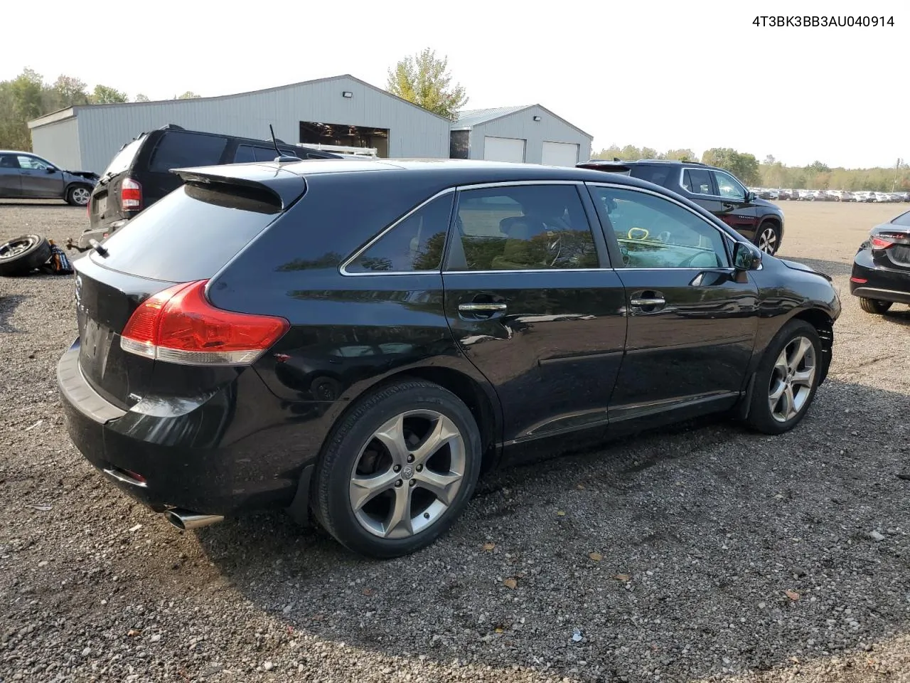
[[[541,120],[535,121],[535,116],[541,117]],[[559,118],[553,117],[542,107],[529,107],[474,126],[470,131],[470,158],[486,158],[483,152],[483,139],[488,136],[527,140],[524,160],[530,164],[542,163],[545,140],[578,145],[579,158],[591,158],[591,138],[577,128],[566,125]]]

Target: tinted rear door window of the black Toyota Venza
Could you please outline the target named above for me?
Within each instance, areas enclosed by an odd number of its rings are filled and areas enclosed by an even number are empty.
[[[460,192],[449,270],[598,268],[578,191],[533,185]]]

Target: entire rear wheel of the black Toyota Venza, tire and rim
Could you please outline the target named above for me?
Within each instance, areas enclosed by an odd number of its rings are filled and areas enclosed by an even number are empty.
[[[438,384],[396,382],[349,411],[316,467],[319,524],[360,555],[409,555],[433,543],[468,504],[480,474],[480,431]]]

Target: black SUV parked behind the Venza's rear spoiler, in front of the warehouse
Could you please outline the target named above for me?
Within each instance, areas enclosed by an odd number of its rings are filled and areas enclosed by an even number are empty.
[[[332,152],[288,145],[278,140],[282,154],[298,158],[343,158]],[[98,180],[89,200],[89,227],[69,249],[91,249],[89,240],[105,240],[139,211],[146,209],[183,182],[172,168],[274,161],[271,140],[203,133],[168,124],[141,133],[126,143]],[[84,203],[85,204],[85,203]]]

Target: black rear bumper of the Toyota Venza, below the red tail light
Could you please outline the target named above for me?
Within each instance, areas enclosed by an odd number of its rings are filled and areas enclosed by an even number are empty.
[[[308,425],[292,425],[293,436],[284,429],[282,406],[256,372],[238,372],[229,386],[199,400],[146,400],[125,411],[95,392],[78,356],[76,342],[57,364],[67,431],[126,494],[156,512],[231,515],[292,501],[306,508],[308,488],[301,494],[298,482],[315,454],[288,446]]]

